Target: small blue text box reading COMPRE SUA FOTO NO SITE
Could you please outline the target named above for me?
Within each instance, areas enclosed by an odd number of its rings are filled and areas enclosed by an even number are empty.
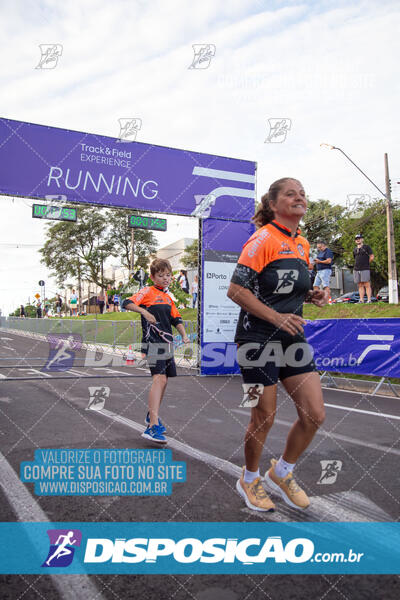
[[[186,481],[172,450],[46,448],[20,465],[21,481],[38,496],[169,496]]]

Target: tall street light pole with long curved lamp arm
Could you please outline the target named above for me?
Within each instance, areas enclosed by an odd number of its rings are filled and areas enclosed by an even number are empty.
[[[387,225],[387,248],[388,248],[388,289],[389,289],[389,303],[390,304],[398,304],[398,285],[397,285],[397,270],[396,270],[396,251],[395,251],[395,243],[394,243],[394,229],[393,229],[393,214],[392,214],[392,200],[390,194],[390,179],[389,179],[389,166],[388,166],[388,156],[385,154],[385,180],[386,180],[386,194],[378,186],[368,177],[366,173],[356,163],[347,156],[347,154],[337,146],[332,146],[331,144],[320,144],[321,146],[327,146],[331,150],[339,150],[347,158],[348,161],[351,162],[352,165],[356,167],[362,175],[374,186],[375,189],[378,190],[380,194],[386,200],[386,225]]]

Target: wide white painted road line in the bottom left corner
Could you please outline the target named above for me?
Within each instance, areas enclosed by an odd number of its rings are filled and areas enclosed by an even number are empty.
[[[14,469],[1,452],[0,485],[19,521],[40,521],[49,523],[49,525],[52,524],[29,490],[18,479]],[[31,542],[35,547],[36,537],[32,537]],[[43,575],[51,578],[52,584],[57,589],[58,597],[61,600],[104,599],[104,596],[87,575],[68,574],[67,578],[65,575],[47,575],[47,572],[43,573]]]

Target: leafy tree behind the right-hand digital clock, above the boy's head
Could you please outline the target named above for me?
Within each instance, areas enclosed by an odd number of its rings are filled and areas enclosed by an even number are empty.
[[[114,250],[119,256],[122,266],[131,270],[132,229],[128,226],[128,216],[132,210],[113,209],[108,212],[110,236],[114,242]],[[135,214],[140,214],[135,211]],[[134,261],[138,267],[147,269],[152,254],[155,254],[158,242],[153,232],[148,229],[135,229]]]

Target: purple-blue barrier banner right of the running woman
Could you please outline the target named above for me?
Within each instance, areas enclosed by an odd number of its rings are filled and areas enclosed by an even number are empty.
[[[304,331],[321,371],[400,377],[400,319],[321,319]]]

